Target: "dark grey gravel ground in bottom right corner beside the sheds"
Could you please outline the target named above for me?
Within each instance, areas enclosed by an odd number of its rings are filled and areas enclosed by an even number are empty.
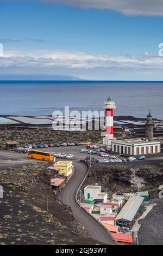
[[[152,199],[150,204],[156,205],[145,219],[139,221],[139,245],[163,245],[163,199]]]

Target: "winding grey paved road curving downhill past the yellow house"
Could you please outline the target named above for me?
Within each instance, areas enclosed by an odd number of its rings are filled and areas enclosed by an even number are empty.
[[[59,199],[62,203],[71,207],[74,218],[85,227],[92,239],[108,245],[115,245],[114,241],[111,239],[110,235],[106,233],[104,228],[83,209],[80,209],[79,205],[76,203],[76,200],[74,199],[76,190],[87,172],[87,166],[84,163],[79,162],[79,160],[75,160],[74,169],[75,172],[70,178],[70,181],[68,181],[66,186],[59,193]]]

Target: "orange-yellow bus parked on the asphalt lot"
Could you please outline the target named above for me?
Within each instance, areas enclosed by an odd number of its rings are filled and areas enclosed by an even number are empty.
[[[43,161],[53,161],[53,153],[41,151],[41,150],[28,150],[28,158],[38,159]]]

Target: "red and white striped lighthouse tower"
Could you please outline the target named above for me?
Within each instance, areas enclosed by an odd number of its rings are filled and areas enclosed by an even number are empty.
[[[116,109],[115,102],[109,97],[104,102],[105,109],[105,137],[103,138],[103,144],[111,144],[113,137],[113,110]]]

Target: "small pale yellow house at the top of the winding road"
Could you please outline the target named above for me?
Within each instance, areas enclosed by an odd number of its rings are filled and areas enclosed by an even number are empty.
[[[72,161],[58,161],[53,165],[53,167],[58,169],[59,175],[69,177],[71,174],[73,174]]]

